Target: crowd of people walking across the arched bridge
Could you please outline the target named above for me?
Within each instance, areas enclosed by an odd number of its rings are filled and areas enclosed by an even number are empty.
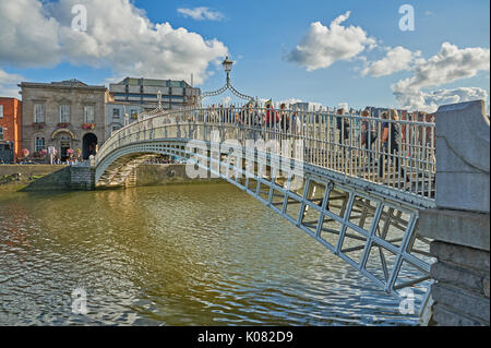
[[[327,122],[326,119],[330,118],[337,133],[337,145],[345,158],[350,158],[351,146],[357,144],[356,146],[361,147],[363,155],[368,158],[368,165],[363,170],[378,168],[375,169],[378,175],[383,177],[384,171],[392,164],[394,170],[408,183],[409,178],[400,160],[404,156],[403,151],[408,153],[409,147],[415,145],[426,148],[435,147],[434,129],[432,131],[431,127],[424,127],[424,123],[434,122],[434,115],[422,111],[400,112],[396,109],[373,113],[370,107],[359,111],[352,109],[348,111],[344,108],[322,110],[321,108],[319,111],[306,112],[288,109],[286,104],[282,104],[275,109],[270,100],[263,107],[252,103],[240,108],[213,105],[205,113],[204,121],[235,123],[260,131],[302,135],[302,127],[307,122],[315,120],[319,123],[320,118],[323,118],[323,122]],[[417,125],[418,122],[420,125]],[[409,144],[409,142],[416,143]]]

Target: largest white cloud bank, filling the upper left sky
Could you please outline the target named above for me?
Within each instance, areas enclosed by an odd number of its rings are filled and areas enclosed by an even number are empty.
[[[74,4],[87,9],[87,32],[71,28]],[[111,68],[116,76],[189,80],[207,76],[209,63],[228,53],[169,23],[152,23],[129,0],[0,1],[0,63],[47,67],[62,61]]]

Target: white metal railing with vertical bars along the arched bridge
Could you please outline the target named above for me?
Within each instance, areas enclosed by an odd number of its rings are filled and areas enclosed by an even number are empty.
[[[161,139],[165,129],[196,124],[223,130],[228,139],[236,136],[242,144],[248,139],[301,140],[307,164],[434,200],[434,117],[430,121],[388,120],[263,107],[184,108],[163,111],[118,130],[100,147],[96,164],[120,146]],[[386,142],[381,141],[384,129],[388,130]],[[196,134],[188,136],[194,140]]]

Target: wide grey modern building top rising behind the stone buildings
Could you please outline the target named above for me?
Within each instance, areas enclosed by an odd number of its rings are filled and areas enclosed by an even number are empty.
[[[158,107],[165,110],[179,109],[199,103],[200,88],[193,88],[185,81],[149,80],[127,77],[120,83],[110,84],[109,91],[116,101],[141,105],[145,111]]]

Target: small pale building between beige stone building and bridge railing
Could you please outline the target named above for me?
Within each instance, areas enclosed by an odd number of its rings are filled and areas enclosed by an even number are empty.
[[[140,104],[109,100],[106,104],[106,140],[111,136],[112,132],[135,122],[142,112],[143,107]]]

